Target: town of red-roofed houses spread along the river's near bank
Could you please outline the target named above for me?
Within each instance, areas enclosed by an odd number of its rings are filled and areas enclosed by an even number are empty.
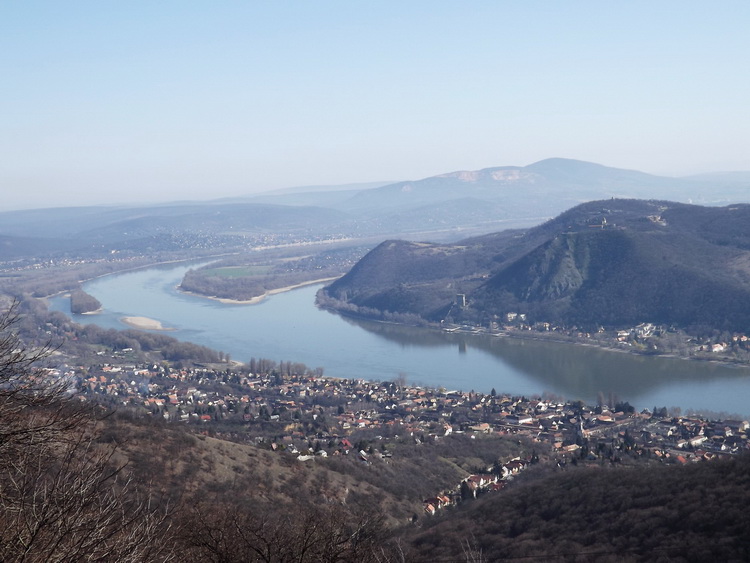
[[[556,397],[514,397],[430,389],[395,381],[326,377],[302,364],[252,359],[233,367],[178,368],[119,361],[50,372],[66,378],[81,401],[95,401],[192,425],[199,433],[257,444],[300,463],[345,456],[388,463],[398,441],[429,446],[451,435],[506,437],[530,448],[435,491],[424,511],[435,514],[479,494],[502,490],[534,464],[687,464],[750,449],[747,420],[680,416],[666,408],[636,412],[627,402],[585,405]]]

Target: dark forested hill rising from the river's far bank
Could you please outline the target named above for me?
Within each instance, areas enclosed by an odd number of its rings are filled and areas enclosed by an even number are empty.
[[[458,295],[465,296],[457,297]],[[322,296],[392,320],[750,327],[750,206],[606,200],[527,231],[388,241]]]

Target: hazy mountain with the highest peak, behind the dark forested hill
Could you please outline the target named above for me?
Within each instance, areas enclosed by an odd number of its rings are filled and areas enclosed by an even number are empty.
[[[563,158],[529,166],[501,166],[398,182],[357,193],[339,208],[363,213],[417,208],[473,198],[503,206],[508,217],[557,215],[579,203],[611,197],[667,199],[704,205],[746,201],[750,174],[707,174],[689,178],[654,176],[634,170]],[[739,198],[739,199],[738,199]]]

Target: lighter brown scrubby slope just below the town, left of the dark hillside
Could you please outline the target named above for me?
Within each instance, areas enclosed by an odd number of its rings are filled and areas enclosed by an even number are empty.
[[[458,434],[421,444],[398,436],[363,441],[352,435],[355,444],[372,443],[376,450],[386,444],[389,457],[371,450],[364,456],[369,461],[363,462],[354,449],[343,454],[341,447],[330,447],[332,438],[327,437],[320,442],[335,455],[299,461],[297,454],[285,451],[278,435],[259,424],[211,422],[199,432],[194,425],[168,425],[127,413],[114,418],[103,426],[101,439],[121,444],[119,461],[128,463],[136,479],[153,479],[165,496],[213,498],[217,503],[243,498],[304,508],[339,504],[352,512],[384,515],[390,526],[421,515],[424,498],[454,489],[475,465],[491,466],[498,456],[511,459],[522,450],[516,439],[502,436],[475,440]],[[255,441],[256,435],[265,438]],[[525,439],[523,444],[531,447]]]

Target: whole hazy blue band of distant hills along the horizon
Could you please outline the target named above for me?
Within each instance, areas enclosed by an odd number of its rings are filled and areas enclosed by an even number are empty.
[[[0,213],[0,259],[28,252],[148,248],[154,239],[258,236],[457,240],[529,227],[611,197],[704,205],[750,201],[750,173],[667,178],[553,158],[416,181],[313,186],[247,198]],[[16,240],[17,237],[18,240]]]

